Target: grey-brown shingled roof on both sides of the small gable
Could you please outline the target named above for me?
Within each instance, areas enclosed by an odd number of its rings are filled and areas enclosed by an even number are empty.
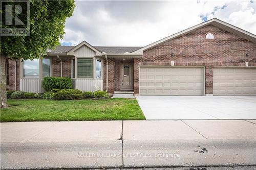
[[[56,46],[50,53],[67,53],[75,46]],[[126,52],[131,53],[138,50],[141,46],[93,46],[100,52],[111,54],[124,54]]]

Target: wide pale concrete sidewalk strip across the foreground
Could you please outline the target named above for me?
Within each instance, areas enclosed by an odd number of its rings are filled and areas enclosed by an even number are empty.
[[[1,167],[256,165],[256,120],[1,123]]]

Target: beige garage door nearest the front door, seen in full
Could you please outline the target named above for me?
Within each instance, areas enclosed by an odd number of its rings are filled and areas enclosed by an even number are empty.
[[[140,67],[141,95],[203,95],[203,68]]]

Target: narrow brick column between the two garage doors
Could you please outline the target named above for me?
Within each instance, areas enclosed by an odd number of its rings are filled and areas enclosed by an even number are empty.
[[[214,67],[207,64],[205,67],[205,94],[214,94]]]

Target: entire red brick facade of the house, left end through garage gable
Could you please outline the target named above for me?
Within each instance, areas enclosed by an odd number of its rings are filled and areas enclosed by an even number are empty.
[[[205,39],[207,33],[212,33],[215,39]],[[173,56],[172,56],[173,54]],[[248,54],[248,56],[246,56]],[[19,90],[20,62],[16,59],[17,90]],[[61,57],[62,76],[71,77],[71,58]],[[214,67],[216,66],[256,66],[256,44],[237,35],[231,34],[218,27],[207,25],[193,32],[168,40],[143,51],[142,58],[134,58],[134,93],[139,93],[139,68],[141,65],[170,66],[204,66],[205,67],[205,93],[213,93]],[[7,89],[14,89],[14,62],[7,60],[9,65],[9,84]],[[125,63],[124,62],[124,63]],[[120,64],[108,58],[108,92],[120,90]],[[52,76],[60,77],[60,60],[52,57]],[[106,90],[106,60],[103,59],[103,89]]]

